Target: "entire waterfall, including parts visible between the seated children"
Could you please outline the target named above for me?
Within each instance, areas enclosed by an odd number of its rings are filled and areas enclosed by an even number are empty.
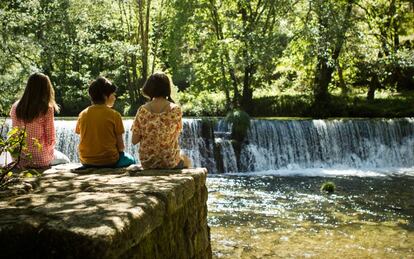
[[[208,134],[201,119],[184,119],[180,145],[196,167],[210,172],[290,168],[414,167],[414,119],[252,120],[240,154],[219,120]],[[75,121],[56,120],[57,149],[78,162]],[[126,151],[132,120],[124,120]],[[206,133],[207,132],[207,133]]]

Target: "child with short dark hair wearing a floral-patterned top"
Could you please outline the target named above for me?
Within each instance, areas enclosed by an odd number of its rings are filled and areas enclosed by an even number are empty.
[[[182,130],[180,106],[171,99],[171,80],[162,72],[152,74],[142,88],[149,99],[139,107],[132,125],[132,144],[139,143],[144,169],[188,168],[190,159],[181,154],[178,137]]]

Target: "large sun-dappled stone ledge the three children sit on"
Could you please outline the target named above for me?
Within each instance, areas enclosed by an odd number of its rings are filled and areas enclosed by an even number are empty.
[[[211,258],[206,169],[74,167],[0,197],[0,257]]]

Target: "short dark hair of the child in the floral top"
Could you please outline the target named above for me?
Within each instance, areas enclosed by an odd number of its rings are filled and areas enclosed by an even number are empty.
[[[150,75],[142,87],[142,95],[152,99],[154,97],[165,97],[167,100],[171,99],[171,80],[163,72],[157,72]]]

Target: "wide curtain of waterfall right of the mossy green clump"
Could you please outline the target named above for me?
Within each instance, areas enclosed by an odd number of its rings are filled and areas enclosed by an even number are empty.
[[[413,119],[254,120],[244,171],[414,166]]]

